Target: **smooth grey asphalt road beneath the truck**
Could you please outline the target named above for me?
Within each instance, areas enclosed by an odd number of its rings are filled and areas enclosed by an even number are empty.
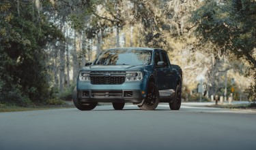
[[[0,113],[0,149],[256,149],[256,113],[184,103]]]

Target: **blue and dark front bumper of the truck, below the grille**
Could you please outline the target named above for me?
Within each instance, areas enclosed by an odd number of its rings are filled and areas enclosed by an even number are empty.
[[[133,102],[145,99],[143,82],[125,82],[122,85],[93,85],[80,81],[77,97],[81,102]]]

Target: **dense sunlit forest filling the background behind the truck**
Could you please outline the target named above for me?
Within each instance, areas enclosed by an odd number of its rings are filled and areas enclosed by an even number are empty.
[[[0,103],[68,99],[79,69],[115,47],[167,50],[188,100],[198,75],[206,99],[255,100],[255,24],[255,0],[1,0]]]

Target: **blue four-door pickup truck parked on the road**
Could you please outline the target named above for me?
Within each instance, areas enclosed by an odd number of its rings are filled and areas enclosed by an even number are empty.
[[[72,96],[81,111],[94,109],[98,102],[112,102],[116,110],[122,110],[126,102],[143,110],[169,102],[171,110],[179,110],[181,94],[182,69],[171,64],[165,50],[113,48],[85,64]]]

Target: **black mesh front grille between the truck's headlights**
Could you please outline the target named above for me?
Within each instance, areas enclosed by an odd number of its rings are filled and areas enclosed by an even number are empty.
[[[91,71],[91,84],[122,84],[126,81],[125,71]]]

